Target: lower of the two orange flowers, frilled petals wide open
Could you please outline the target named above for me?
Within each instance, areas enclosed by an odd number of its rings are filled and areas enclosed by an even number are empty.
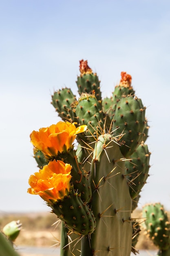
[[[71,191],[71,165],[60,160],[53,160],[45,165],[39,173],[29,177],[28,193],[40,195],[46,202],[57,202]]]

